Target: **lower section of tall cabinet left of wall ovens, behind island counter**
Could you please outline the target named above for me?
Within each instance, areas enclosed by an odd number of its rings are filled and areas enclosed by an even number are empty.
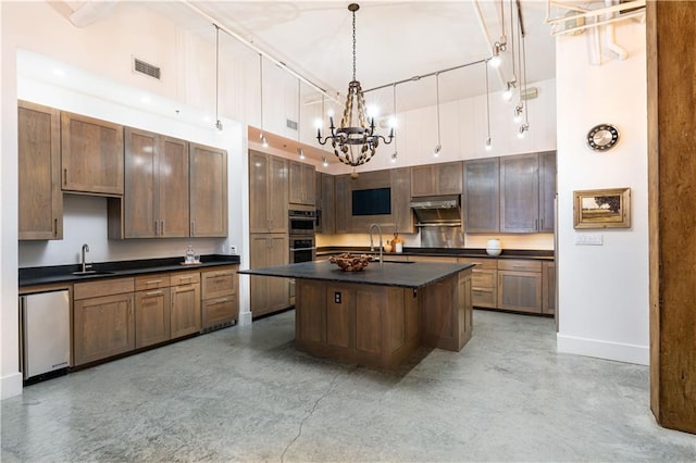
[[[286,234],[252,234],[250,236],[249,266],[259,268],[285,265],[289,261]],[[290,288],[287,278],[250,276],[250,309],[257,317],[287,309],[290,304]]]

